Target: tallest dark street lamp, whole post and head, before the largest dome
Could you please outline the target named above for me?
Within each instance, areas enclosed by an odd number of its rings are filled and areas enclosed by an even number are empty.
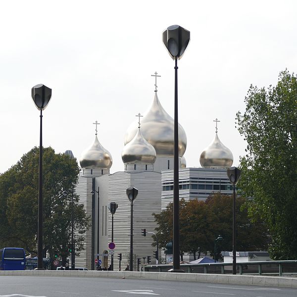
[[[173,269],[170,272],[184,272],[180,269],[179,247],[179,168],[178,168],[178,93],[177,93],[177,59],[184,54],[190,42],[190,31],[173,25],[163,32],[163,43],[169,55],[175,60],[174,84],[174,166],[173,166]]]

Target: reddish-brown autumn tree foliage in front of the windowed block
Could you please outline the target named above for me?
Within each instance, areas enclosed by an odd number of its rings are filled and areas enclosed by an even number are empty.
[[[237,249],[259,250],[267,248],[267,230],[261,222],[251,222],[247,215],[247,198],[237,197]],[[153,214],[160,247],[172,240],[173,203],[165,210]],[[233,197],[216,193],[207,200],[180,201],[180,251],[196,253],[211,251],[214,254],[214,240],[221,235],[223,241],[217,242],[220,250],[232,250]],[[219,248],[216,251],[218,257]]]

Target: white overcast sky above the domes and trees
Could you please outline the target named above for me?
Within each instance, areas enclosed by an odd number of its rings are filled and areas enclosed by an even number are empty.
[[[179,122],[188,137],[187,166],[219,137],[239,164],[245,142],[235,128],[250,84],[274,85],[297,70],[297,1],[126,0],[1,1],[0,172],[39,145],[39,111],[31,88],[45,84],[44,146],[79,158],[99,141],[123,169],[124,134],[154,96],[174,110],[174,62],[161,33],[178,24],[191,31],[179,61]]]

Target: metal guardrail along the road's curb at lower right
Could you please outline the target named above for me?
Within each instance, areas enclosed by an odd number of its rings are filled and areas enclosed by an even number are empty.
[[[172,265],[146,265],[145,271],[167,272]],[[187,273],[232,274],[232,263],[181,264]],[[297,260],[250,261],[236,264],[237,274],[243,275],[293,275],[297,274]]]

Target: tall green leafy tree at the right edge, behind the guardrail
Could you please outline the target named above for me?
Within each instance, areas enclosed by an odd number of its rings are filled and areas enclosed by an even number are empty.
[[[238,130],[247,141],[241,158],[243,195],[249,213],[271,234],[274,259],[297,258],[297,77],[282,71],[275,87],[250,86]]]

